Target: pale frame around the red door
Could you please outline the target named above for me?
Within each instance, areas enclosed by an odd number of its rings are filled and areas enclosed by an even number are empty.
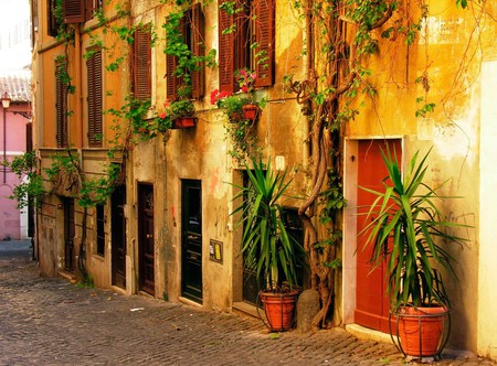
[[[362,140],[401,140],[401,159],[404,160],[405,155],[405,137],[401,134],[346,138],[343,142],[343,195],[347,198],[347,207],[343,209],[343,243],[347,245],[342,246],[341,311],[345,325],[355,324],[357,306],[357,157],[359,141]]]

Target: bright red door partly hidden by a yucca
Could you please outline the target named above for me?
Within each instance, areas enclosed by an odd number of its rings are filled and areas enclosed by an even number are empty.
[[[401,140],[362,140],[358,151],[358,186],[383,190],[382,180],[388,175],[381,158],[381,150],[389,144],[390,151],[395,149],[401,157]],[[367,213],[376,196],[358,189],[359,213]],[[358,215],[357,232],[367,225],[366,215]],[[371,272],[369,262],[371,250],[363,249],[364,236],[358,237],[357,250],[357,306],[355,322],[357,324],[389,333],[389,299],[385,295],[384,266]]]

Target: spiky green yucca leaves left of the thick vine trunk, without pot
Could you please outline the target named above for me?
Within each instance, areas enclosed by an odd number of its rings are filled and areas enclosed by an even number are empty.
[[[242,252],[245,267],[255,271],[265,290],[279,291],[282,283],[289,289],[297,284],[296,267],[304,249],[285,227],[283,206],[292,180],[285,182],[286,171],[273,172],[271,162],[252,160],[253,169],[245,165],[247,186],[235,185],[240,191],[233,198],[242,198],[233,214],[240,213],[237,227],[243,225]]]

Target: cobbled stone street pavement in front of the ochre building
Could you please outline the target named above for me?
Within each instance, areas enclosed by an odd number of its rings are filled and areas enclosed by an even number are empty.
[[[342,329],[269,334],[250,316],[41,278],[30,258],[29,241],[0,241],[0,365],[404,364],[393,345]]]

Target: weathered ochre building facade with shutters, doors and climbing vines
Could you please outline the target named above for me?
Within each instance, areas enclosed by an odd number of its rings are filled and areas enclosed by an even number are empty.
[[[229,133],[235,117],[218,108],[215,90],[242,95],[246,75],[240,83],[237,73],[255,71],[251,96],[266,103],[250,136],[263,159],[289,168],[292,194],[309,195],[313,126],[309,114],[302,112],[305,103],[286,82],[288,75],[309,75],[310,44],[318,43],[319,28],[307,32],[311,18],[300,17],[286,0],[251,1],[233,13],[236,1],[57,4],[32,1],[38,23],[34,141],[40,169],[50,172],[43,174],[51,192],[36,220],[42,271],[84,272],[98,287],[211,310],[253,303],[231,215],[233,183],[244,184],[236,140]],[[472,9],[479,9],[478,21],[455,3],[430,4],[422,15],[413,11],[421,19],[414,43],[376,34],[381,52],[367,63],[377,94],[356,99],[359,115],[343,126],[338,149],[347,208],[334,322],[384,332],[384,284],[381,277],[369,277],[357,256],[356,207],[368,204],[358,185],[383,179],[379,157],[385,141],[398,147],[403,162],[432,148],[431,182],[448,180],[444,192],[463,196],[444,207],[447,217],[472,226],[461,233],[470,239],[466,248],[448,247],[459,278],[447,283],[454,299],[450,346],[497,357],[491,333],[497,317],[489,314],[496,297],[488,280],[497,255],[495,205],[485,194],[495,184],[490,90],[497,78],[491,42],[497,8]],[[488,26],[480,28],[483,21]],[[61,24],[66,39],[61,39]],[[161,129],[170,122],[162,114],[181,100],[193,105],[194,127]],[[54,171],[67,161],[74,170]],[[85,191],[87,182],[101,182],[104,190],[116,171],[118,184],[105,200],[96,200],[98,190]],[[285,209],[296,235],[304,237],[299,204],[290,200]]]

